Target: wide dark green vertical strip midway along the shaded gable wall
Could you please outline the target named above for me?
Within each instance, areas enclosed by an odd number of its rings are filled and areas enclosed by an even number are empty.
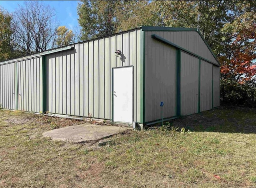
[[[180,49],[176,49],[176,116],[180,116],[180,111],[181,111],[180,70],[181,70]]]

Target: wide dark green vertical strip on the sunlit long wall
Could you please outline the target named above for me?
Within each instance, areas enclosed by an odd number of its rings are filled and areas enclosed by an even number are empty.
[[[47,83],[46,83],[46,56],[42,56],[42,86],[43,86],[43,95],[42,95],[42,109],[43,113],[47,111]]]

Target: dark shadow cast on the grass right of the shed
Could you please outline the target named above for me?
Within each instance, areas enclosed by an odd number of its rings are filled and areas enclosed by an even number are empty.
[[[256,108],[221,106],[170,123],[197,132],[256,134]]]

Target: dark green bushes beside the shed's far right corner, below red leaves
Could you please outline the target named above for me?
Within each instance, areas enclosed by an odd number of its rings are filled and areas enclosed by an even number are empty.
[[[221,80],[220,100],[222,104],[256,106],[255,81],[240,83],[232,79]]]

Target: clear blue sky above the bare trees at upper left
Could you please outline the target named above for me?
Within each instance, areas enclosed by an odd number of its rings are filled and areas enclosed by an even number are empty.
[[[0,0],[0,6],[8,12],[14,12],[18,6],[22,6],[25,1],[7,1]],[[60,26],[66,26],[68,29],[74,30],[78,26],[77,4],[76,0],[48,0],[42,1],[44,4],[50,5],[56,10],[56,17]]]

